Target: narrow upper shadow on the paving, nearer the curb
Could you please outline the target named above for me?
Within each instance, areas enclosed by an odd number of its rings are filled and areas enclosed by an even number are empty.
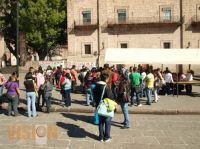
[[[89,124],[93,124],[93,116],[78,115],[72,113],[61,113],[64,117],[72,119],[74,121],[83,121]]]

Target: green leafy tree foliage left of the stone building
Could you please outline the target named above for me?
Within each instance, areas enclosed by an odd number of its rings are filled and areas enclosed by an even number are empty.
[[[6,30],[12,33],[6,35],[6,43],[15,44],[16,3],[15,0],[3,1],[6,7],[11,8],[9,14],[3,12],[5,23],[2,24],[6,28],[3,34],[5,36]],[[26,34],[27,45],[38,53],[40,60],[43,60],[52,53],[49,51],[52,47],[66,43],[66,0],[19,0],[19,2],[20,31]],[[10,28],[7,26],[9,23],[12,24]]]

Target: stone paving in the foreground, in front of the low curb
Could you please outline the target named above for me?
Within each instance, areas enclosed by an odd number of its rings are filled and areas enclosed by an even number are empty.
[[[111,142],[98,141],[93,115],[39,113],[36,118],[0,114],[1,149],[199,149],[198,115],[131,114],[129,129],[121,129],[121,114],[112,120]],[[46,126],[43,133],[35,132]],[[31,129],[30,129],[31,128]],[[43,135],[42,135],[43,134]],[[42,137],[38,137],[42,136]]]

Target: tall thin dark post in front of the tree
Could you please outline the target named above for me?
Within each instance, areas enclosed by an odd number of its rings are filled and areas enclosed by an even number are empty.
[[[17,0],[17,17],[16,17],[16,73],[19,76],[19,0]]]

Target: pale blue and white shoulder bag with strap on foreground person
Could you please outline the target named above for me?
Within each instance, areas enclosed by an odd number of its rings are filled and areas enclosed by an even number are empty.
[[[103,95],[105,92],[105,88],[106,88],[106,85],[104,86],[103,92],[101,94],[101,100],[97,107],[97,113],[98,113],[98,115],[105,116],[105,117],[114,117],[114,110],[109,111],[108,105],[103,101]]]

